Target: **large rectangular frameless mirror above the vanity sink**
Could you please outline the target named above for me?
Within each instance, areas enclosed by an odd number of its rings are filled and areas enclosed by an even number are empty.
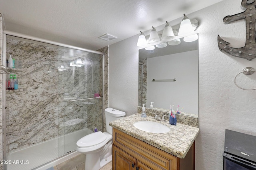
[[[181,114],[198,117],[198,39],[185,42],[180,38],[166,47],[139,50],[139,106],[164,111],[178,105]],[[176,79],[176,81],[174,81]]]

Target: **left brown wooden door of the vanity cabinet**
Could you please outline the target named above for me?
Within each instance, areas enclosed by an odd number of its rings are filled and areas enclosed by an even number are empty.
[[[112,169],[113,170],[136,170],[136,159],[112,145]]]

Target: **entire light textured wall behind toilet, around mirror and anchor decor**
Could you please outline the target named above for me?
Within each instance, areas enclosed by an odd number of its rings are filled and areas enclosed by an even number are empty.
[[[242,12],[241,0],[224,0],[188,14],[196,18],[199,35],[199,127],[196,139],[196,170],[222,169],[225,129],[256,135],[256,90],[245,91],[235,86],[234,76],[243,68],[256,69],[256,59],[247,61],[219,51],[217,36],[243,47],[246,37],[244,21],[224,25],[223,18]],[[181,19],[180,19],[181,20]],[[173,22],[170,22],[173,25]],[[110,45],[110,98],[114,107],[136,113],[138,103],[138,35]],[[134,70],[133,70],[134,69]],[[238,78],[244,86],[256,88],[256,75]],[[129,79],[129,81],[127,80]],[[244,81],[243,81],[244,80]],[[117,85],[118,87],[116,87]],[[116,87],[116,88],[115,88]],[[130,97],[130,99],[129,99]]]

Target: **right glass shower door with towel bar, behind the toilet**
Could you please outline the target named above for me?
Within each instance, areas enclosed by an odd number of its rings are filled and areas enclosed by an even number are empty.
[[[94,98],[102,90],[101,58],[102,55],[59,47],[60,156],[76,150],[76,142],[92,133],[97,125],[102,129],[102,99]],[[92,123],[95,119],[100,121]]]

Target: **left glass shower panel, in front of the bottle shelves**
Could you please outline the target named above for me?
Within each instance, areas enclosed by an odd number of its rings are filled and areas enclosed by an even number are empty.
[[[8,68],[19,85],[5,96],[7,169],[28,170],[59,155],[58,47],[6,35],[9,55],[22,68]]]

